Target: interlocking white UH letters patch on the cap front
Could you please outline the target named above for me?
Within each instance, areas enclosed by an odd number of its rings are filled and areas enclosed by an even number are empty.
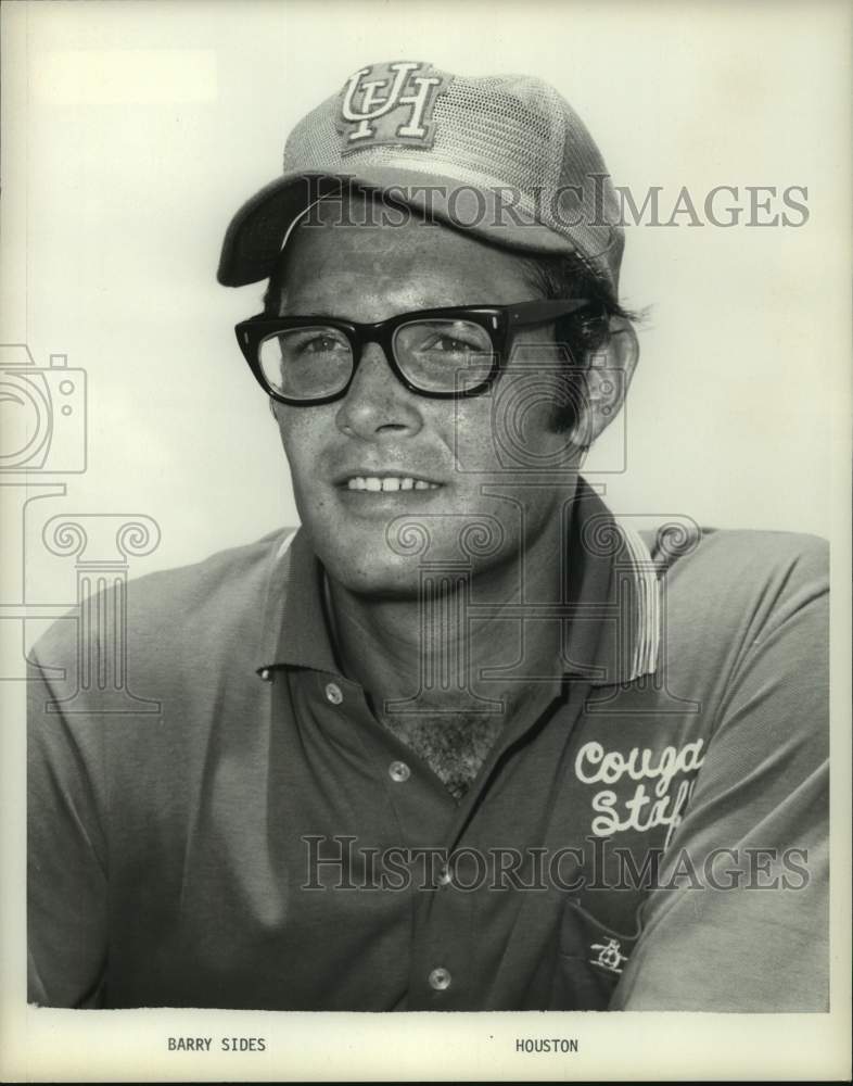
[[[343,135],[342,154],[389,143],[431,148],[435,99],[451,79],[421,61],[359,68],[340,96],[336,126]]]

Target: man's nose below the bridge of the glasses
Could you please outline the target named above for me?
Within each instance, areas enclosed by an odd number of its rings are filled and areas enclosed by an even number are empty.
[[[379,343],[365,344],[336,422],[343,433],[366,440],[383,433],[413,434],[423,425],[416,393],[400,383]]]

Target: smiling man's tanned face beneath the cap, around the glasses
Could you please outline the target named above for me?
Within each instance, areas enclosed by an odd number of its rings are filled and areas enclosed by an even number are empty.
[[[324,225],[294,230],[284,258],[280,313],[288,316],[378,321],[422,308],[536,296],[513,253],[416,220],[400,227],[341,226],[330,214]],[[522,330],[514,343],[513,361],[525,354],[542,361],[546,344],[553,369],[551,329]],[[558,464],[571,468],[576,457],[568,435],[550,426],[553,377],[543,384],[534,368],[519,372],[502,379],[502,397],[499,378],[491,395],[431,400],[404,388],[382,349],[368,343],[343,399],[308,407],[275,404],[296,506],[332,578],[357,593],[409,596],[417,592],[424,558],[471,557],[481,579],[518,576],[520,550],[535,553],[546,529],[553,531],[556,510],[573,492],[575,477],[570,470],[563,484],[531,487],[527,475],[526,485],[511,485],[517,476],[501,464],[495,418],[499,414],[504,428],[507,419],[510,427],[522,426],[515,440],[527,463],[547,463],[552,472]],[[349,480],[357,477],[413,484],[352,489]],[[432,485],[421,489],[417,480]],[[492,484],[487,493],[484,484]],[[484,536],[469,533],[471,555],[460,538],[467,526],[483,521],[494,543],[478,545]],[[406,531],[405,523],[422,527]],[[418,540],[429,542],[426,552],[415,545]]]

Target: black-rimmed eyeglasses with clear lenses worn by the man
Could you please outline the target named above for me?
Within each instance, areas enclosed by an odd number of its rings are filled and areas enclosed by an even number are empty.
[[[346,395],[367,343],[378,343],[410,392],[456,400],[485,392],[517,328],[544,325],[581,310],[584,299],[417,310],[359,324],[332,317],[259,315],[235,326],[260,387],[275,400],[308,406]]]

